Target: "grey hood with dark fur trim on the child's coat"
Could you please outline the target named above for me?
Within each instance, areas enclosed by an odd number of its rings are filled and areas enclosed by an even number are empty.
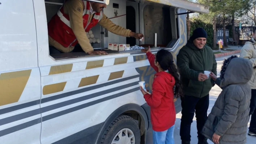
[[[245,84],[251,79],[252,73],[251,61],[231,56],[223,61],[220,87],[226,87],[231,84]]]

